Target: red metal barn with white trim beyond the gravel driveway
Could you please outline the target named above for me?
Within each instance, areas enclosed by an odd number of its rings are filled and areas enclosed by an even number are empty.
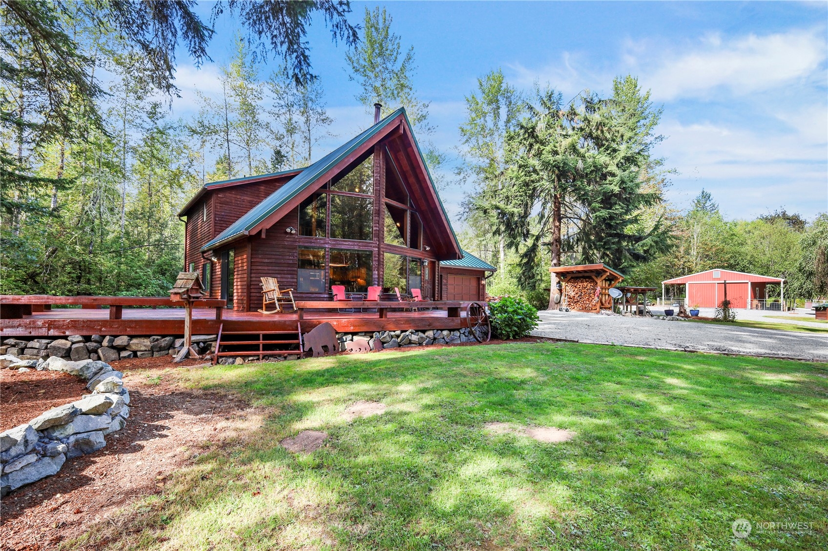
[[[781,295],[779,303],[773,304],[779,304],[776,309],[781,309],[785,298],[784,281],[768,275],[715,269],[662,281],[662,296],[667,299],[667,295],[664,294],[667,285],[685,285],[688,307],[716,308],[724,300],[726,282],[727,298],[731,308],[773,309],[773,307],[768,307],[768,285],[779,285]]]

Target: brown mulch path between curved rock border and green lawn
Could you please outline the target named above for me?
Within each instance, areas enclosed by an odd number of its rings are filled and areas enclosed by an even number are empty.
[[[113,362],[132,402],[126,428],[99,452],[70,459],[60,473],[2,500],[2,551],[55,549],[142,496],[166,477],[230,438],[261,426],[261,411],[242,400],[178,382],[168,357]],[[192,367],[183,369],[199,369]]]

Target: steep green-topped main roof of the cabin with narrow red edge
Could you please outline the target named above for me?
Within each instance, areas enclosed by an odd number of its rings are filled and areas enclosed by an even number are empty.
[[[306,167],[305,170],[302,170],[291,180],[288,180],[286,184],[282,185],[281,188],[274,191],[272,194],[267,196],[267,198],[262,200],[261,203],[251,208],[248,213],[244,214],[241,218],[238,218],[238,220],[230,224],[229,228],[225,229],[224,232],[219,233],[218,236],[207,242],[204,247],[201,247],[201,252],[221,247],[226,243],[238,239],[238,237],[255,231],[254,228],[257,228],[259,224],[265,223],[267,218],[277,213],[277,211],[288,204],[291,199],[300,196],[306,191],[306,194],[312,193],[313,184],[317,183],[318,180],[325,176],[330,176],[330,170],[333,170],[336,165],[339,165],[339,163],[345,161],[351,154],[354,153],[354,151],[357,151],[360,146],[368,143],[372,140],[372,138],[377,137],[384,130],[390,130],[391,128],[389,127],[394,127],[394,123],[396,122],[404,123],[406,125],[407,132],[404,132],[404,135],[410,137],[413,142],[413,146],[416,149],[416,154],[421,157],[420,146],[417,144],[416,137],[414,137],[413,132],[411,132],[411,123],[408,121],[406,110],[405,108],[399,108],[397,111],[394,111],[387,117],[383,118],[380,122],[377,122],[372,127],[369,127],[368,130],[359,133],[351,140],[345,142],[342,146],[337,147],[334,151],[331,151],[328,155],[322,157],[319,161],[316,161]],[[383,137],[387,134],[388,132],[383,132]],[[376,141],[378,141],[378,139]],[[425,163],[423,163],[423,165],[425,165]],[[431,174],[428,172],[427,166],[426,178],[428,179],[428,184],[431,185],[431,189],[433,190],[434,180],[431,178]],[[445,207],[443,207],[442,201],[440,200],[440,195],[436,194],[436,191],[434,194],[436,197],[436,204],[440,208],[440,214],[442,215],[440,218],[442,219],[442,222],[445,223],[445,229],[450,237],[450,249],[454,250],[451,254],[452,256],[456,256],[460,254],[460,245],[457,243],[454,228],[451,228],[451,223],[449,222],[448,214],[445,213]],[[265,224],[265,227],[266,226],[267,223]]]

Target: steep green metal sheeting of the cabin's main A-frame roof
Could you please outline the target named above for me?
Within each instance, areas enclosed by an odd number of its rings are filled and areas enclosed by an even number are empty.
[[[288,180],[286,184],[282,185],[281,188],[268,195],[267,198],[263,199],[261,203],[251,208],[248,213],[244,214],[241,218],[238,218],[238,220],[230,224],[229,228],[225,229],[224,232],[219,233],[218,236],[207,242],[204,247],[201,247],[201,252],[209,251],[215,247],[220,247],[221,245],[224,245],[224,243],[231,242],[234,239],[238,239],[238,237],[245,235],[247,232],[255,228],[258,223],[261,223],[262,220],[270,216],[272,213],[275,213],[278,208],[282,207],[282,205],[296,197],[297,194],[300,194],[303,189],[306,189],[310,184],[313,184],[320,178],[320,176],[325,175],[328,170],[333,168],[337,163],[339,163],[339,161],[342,161],[345,157],[349,156],[365,141],[368,141],[379,131],[383,130],[384,127],[388,126],[389,122],[401,113],[402,116],[405,117],[408,127],[411,128],[411,122],[408,121],[408,115],[406,114],[405,108],[397,109],[397,111],[389,114],[387,117],[383,118],[383,120],[368,128],[368,130],[360,133],[350,141],[345,142],[342,146],[337,147],[334,151],[331,151],[319,161],[316,161],[305,170],[302,170],[291,180]],[[417,152],[420,156],[422,156],[420,146],[417,143],[416,137],[414,137],[413,133],[412,139]],[[428,172],[428,166],[426,166],[426,173],[428,173],[429,180],[433,182],[434,180],[431,179],[431,173]],[[258,177],[259,176],[257,176],[257,178]],[[219,184],[219,182],[214,182],[214,184]],[[443,207],[442,201],[440,200],[440,194],[437,194],[437,201],[439,202],[440,208],[445,216],[445,220],[448,223],[451,237],[453,237],[455,242],[457,242],[455,230],[451,227],[448,214],[445,213],[445,207]]]

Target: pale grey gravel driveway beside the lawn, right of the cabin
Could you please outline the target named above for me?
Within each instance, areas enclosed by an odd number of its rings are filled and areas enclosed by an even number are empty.
[[[678,348],[828,361],[828,334],[728,327],[712,323],[625,318],[580,312],[539,312],[533,335],[580,343]]]

